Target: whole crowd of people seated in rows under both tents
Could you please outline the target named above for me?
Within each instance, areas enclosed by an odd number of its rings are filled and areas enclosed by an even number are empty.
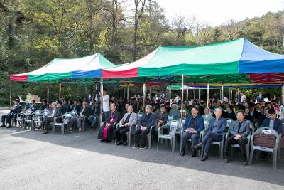
[[[210,106],[200,100],[193,100],[192,104],[183,104],[182,110],[179,110],[180,99],[176,98],[173,103],[159,98],[147,98],[146,107],[142,110],[142,98],[132,97],[130,100],[116,99],[113,97],[109,100],[106,90],[103,91],[102,106],[102,125],[99,124],[100,102],[96,98],[91,98],[89,102],[87,98],[84,100],[60,100],[52,102],[49,105],[46,100],[42,102],[41,111],[47,114],[43,117],[40,125],[35,128],[43,128],[48,134],[49,125],[58,117],[58,121],[62,122],[62,115],[67,112],[77,112],[77,117],[72,117],[67,122],[69,132],[73,132],[77,128],[82,131],[85,121],[89,122],[91,127],[98,128],[98,139],[101,142],[114,142],[116,145],[123,144],[126,146],[128,142],[128,133],[133,130],[134,149],[145,149],[147,146],[148,134],[153,134],[157,139],[158,128],[168,124],[169,120],[185,120],[182,125],[180,137],[180,155],[185,156],[187,142],[190,140],[192,146],[191,157],[197,156],[197,151],[203,149],[201,160],[208,159],[210,144],[212,142],[221,142],[224,134],[228,137],[224,141],[224,162],[229,162],[229,147],[231,144],[239,144],[241,156],[244,165],[248,163],[246,144],[249,142],[249,134],[251,134],[251,126],[273,128],[279,134],[282,132],[282,122],[277,118],[279,115],[279,107],[276,102],[264,102],[262,99],[257,103],[249,102],[249,104],[239,104],[238,101],[222,102],[212,100]],[[2,115],[1,127],[11,127],[11,119],[21,113],[21,105],[19,100],[14,101],[14,105],[8,115]],[[38,107],[34,100],[31,100],[29,112],[25,112],[23,117],[23,125],[26,126],[25,120],[34,115]],[[231,128],[227,132],[227,119],[233,120]],[[6,122],[6,124],[5,124]],[[100,127],[99,127],[100,126]],[[153,130],[152,130],[153,129]],[[163,129],[163,134],[168,134],[168,129]],[[151,137],[150,137],[151,138]]]

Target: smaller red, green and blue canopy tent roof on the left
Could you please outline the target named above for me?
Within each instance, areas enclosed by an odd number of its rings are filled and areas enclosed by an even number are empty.
[[[26,82],[55,82],[66,80],[70,83],[76,83],[75,79],[84,79],[83,81],[93,80],[102,77],[102,70],[106,68],[114,68],[116,65],[109,62],[100,53],[83,58],[55,58],[42,68],[29,73],[19,75],[11,75],[12,81]],[[88,80],[88,81],[89,81]]]

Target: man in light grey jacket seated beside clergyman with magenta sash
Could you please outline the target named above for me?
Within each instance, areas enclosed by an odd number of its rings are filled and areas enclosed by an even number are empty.
[[[127,113],[122,117],[119,122],[119,127],[114,130],[114,134],[116,135],[116,144],[124,144],[127,145],[127,136],[126,132],[129,132],[129,128],[131,125],[136,125],[137,122],[137,114],[133,112],[133,105],[129,105],[127,107]]]

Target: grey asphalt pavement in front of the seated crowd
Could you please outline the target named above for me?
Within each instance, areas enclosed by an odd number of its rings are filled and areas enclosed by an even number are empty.
[[[0,115],[5,112],[0,108]],[[237,151],[224,164],[212,148],[201,162],[171,153],[165,143],[157,152],[96,137],[0,128],[0,189],[284,189],[283,159],[278,169],[262,159],[243,167]]]

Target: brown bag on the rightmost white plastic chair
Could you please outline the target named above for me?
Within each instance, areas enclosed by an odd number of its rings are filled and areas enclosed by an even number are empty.
[[[273,134],[256,134],[253,137],[253,144],[258,147],[273,149],[275,147],[276,137]]]

